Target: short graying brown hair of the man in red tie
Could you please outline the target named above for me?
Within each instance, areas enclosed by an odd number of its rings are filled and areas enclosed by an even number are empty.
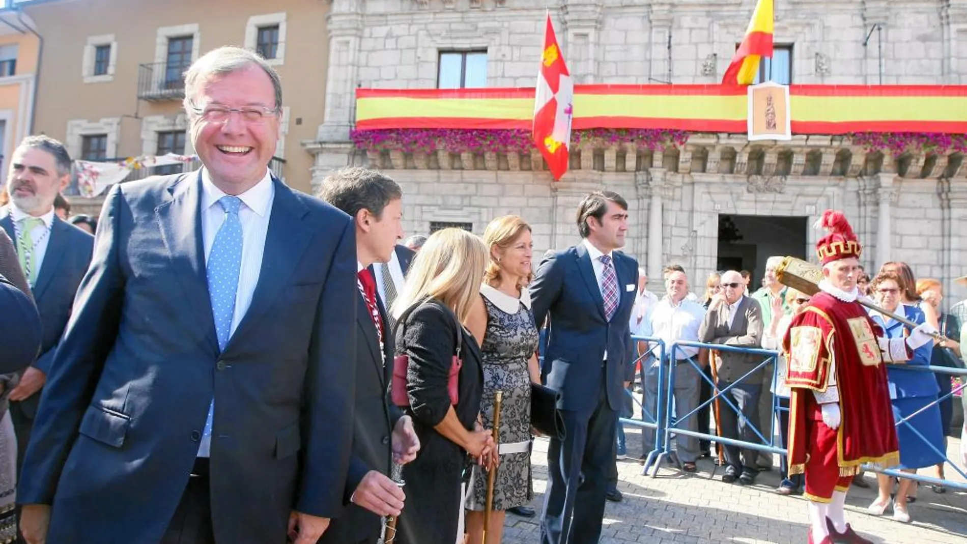
[[[402,198],[403,190],[377,170],[353,166],[323,180],[318,196],[353,217],[365,208],[381,219],[386,205]]]

